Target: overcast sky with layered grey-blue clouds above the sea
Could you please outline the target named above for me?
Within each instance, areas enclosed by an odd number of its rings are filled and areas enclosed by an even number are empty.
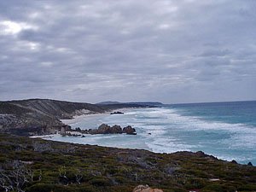
[[[255,0],[0,1],[0,100],[256,100]]]

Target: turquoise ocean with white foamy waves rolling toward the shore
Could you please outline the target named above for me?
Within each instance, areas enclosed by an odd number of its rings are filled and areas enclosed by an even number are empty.
[[[125,114],[99,114],[68,120],[73,128],[132,125],[136,136],[85,135],[46,139],[117,148],[143,148],[156,153],[203,151],[222,160],[256,165],[256,102],[212,102],[124,109]]]

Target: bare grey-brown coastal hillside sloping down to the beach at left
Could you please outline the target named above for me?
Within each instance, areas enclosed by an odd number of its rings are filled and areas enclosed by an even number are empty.
[[[63,125],[60,119],[71,119],[84,113],[102,113],[105,109],[90,103],[30,99],[0,102],[0,131],[42,129],[50,132]]]

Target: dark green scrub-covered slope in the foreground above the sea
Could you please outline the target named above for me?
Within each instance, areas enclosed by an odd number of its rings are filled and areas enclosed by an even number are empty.
[[[0,154],[1,192],[128,192],[138,184],[164,191],[256,191],[256,167],[202,152],[154,154],[0,135]]]

